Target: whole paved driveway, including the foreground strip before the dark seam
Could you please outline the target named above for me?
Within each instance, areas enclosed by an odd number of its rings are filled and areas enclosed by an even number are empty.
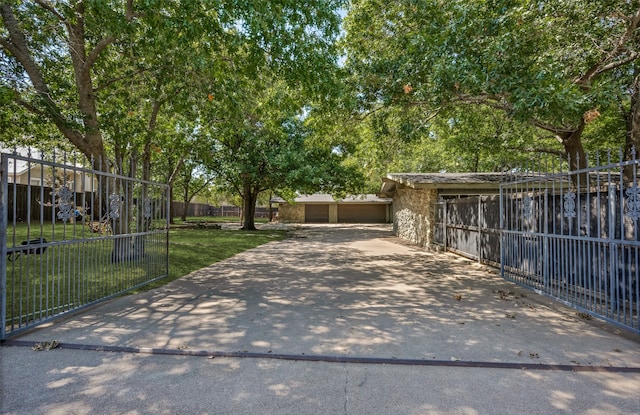
[[[640,412],[639,336],[387,225],[305,226],[12,340],[3,414]]]

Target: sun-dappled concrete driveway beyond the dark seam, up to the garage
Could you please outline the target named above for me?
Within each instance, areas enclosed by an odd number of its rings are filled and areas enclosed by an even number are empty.
[[[318,226],[293,236],[116,299],[48,336],[152,348],[640,366],[633,336],[582,320],[493,268],[408,245],[388,227]]]

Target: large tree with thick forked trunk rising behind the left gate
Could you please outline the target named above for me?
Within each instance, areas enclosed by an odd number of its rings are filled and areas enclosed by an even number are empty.
[[[330,62],[316,58],[337,32],[341,4],[2,2],[0,65],[7,76],[0,81],[0,101],[55,125],[106,171],[115,157],[106,142],[113,140],[111,150],[118,149],[117,127],[129,120],[123,113],[149,100],[147,131],[167,103],[193,115],[194,103],[204,102],[207,89],[237,69],[226,62],[240,48],[245,70],[269,60],[292,81],[316,88],[313,73],[323,70],[314,69]],[[153,140],[140,141],[136,151],[144,159]]]

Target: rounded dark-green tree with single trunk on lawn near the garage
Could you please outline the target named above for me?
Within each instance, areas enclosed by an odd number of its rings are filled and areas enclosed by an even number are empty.
[[[257,80],[237,84],[232,109],[226,103],[203,123],[206,166],[215,172],[224,187],[242,197],[243,229],[255,230],[254,214],[258,196],[271,190],[282,196],[295,192],[354,190],[361,177],[353,167],[343,165],[343,157],[333,147],[314,144],[300,113],[304,94],[280,79],[263,74]],[[204,119],[203,119],[204,121]]]

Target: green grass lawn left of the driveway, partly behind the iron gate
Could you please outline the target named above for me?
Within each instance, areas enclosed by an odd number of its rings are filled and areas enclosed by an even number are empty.
[[[137,287],[148,290],[195,270],[229,258],[239,252],[286,237],[286,231],[240,231],[210,228],[169,230],[169,271],[165,278],[145,284],[165,273],[166,233],[127,238],[127,258],[113,260],[115,241],[106,235],[67,232],[43,228],[47,241],[55,241],[42,254],[12,255],[7,258],[6,313],[9,331],[100,298]],[[40,236],[29,232],[29,238]],[[8,246],[26,239],[26,225],[13,230]],[[84,236],[87,239],[81,239]],[[124,247],[125,245],[122,244]],[[139,248],[141,247],[141,248]],[[142,255],[135,256],[136,252]]]

